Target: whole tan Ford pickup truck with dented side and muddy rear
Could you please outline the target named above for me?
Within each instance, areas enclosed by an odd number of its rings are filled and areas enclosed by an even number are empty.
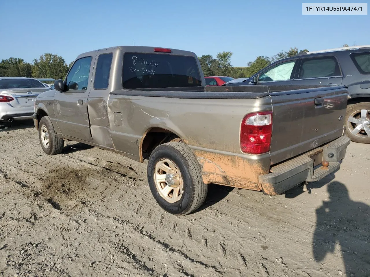
[[[81,54],[36,98],[43,151],[79,141],[148,160],[167,212],[185,215],[216,183],[277,195],[339,169],[345,86],[206,87],[192,52],[120,46]]]

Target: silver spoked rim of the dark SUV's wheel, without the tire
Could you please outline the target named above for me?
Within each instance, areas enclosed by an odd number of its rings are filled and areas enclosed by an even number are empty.
[[[348,117],[347,128],[356,137],[370,137],[370,111],[363,109],[351,113]]]

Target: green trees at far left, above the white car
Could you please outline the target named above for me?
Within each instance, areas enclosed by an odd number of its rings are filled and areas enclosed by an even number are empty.
[[[32,64],[21,58],[2,59],[0,77],[64,79],[71,64],[68,66],[63,57],[50,53],[34,59]]]

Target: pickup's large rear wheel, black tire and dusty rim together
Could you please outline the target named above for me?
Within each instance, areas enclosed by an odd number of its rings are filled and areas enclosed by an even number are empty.
[[[166,173],[159,168],[163,167],[163,164]],[[185,143],[169,142],[157,146],[149,157],[147,173],[150,190],[159,206],[166,212],[187,215],[198,209],[207,196],[208,185],[203,183],[199,163]],[[164,178],[163,175],[166,179],[160,182]],[[178,187],[171,188],[168,184]]]

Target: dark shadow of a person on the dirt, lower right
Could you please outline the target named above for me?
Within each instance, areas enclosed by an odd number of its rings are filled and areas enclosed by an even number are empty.
[[[316,209],[313,256],[318,262],[327,253],[340,252],[344,276],[370,276],[370,206],[352,201],[341,182],[327,185],[329,201]]]

